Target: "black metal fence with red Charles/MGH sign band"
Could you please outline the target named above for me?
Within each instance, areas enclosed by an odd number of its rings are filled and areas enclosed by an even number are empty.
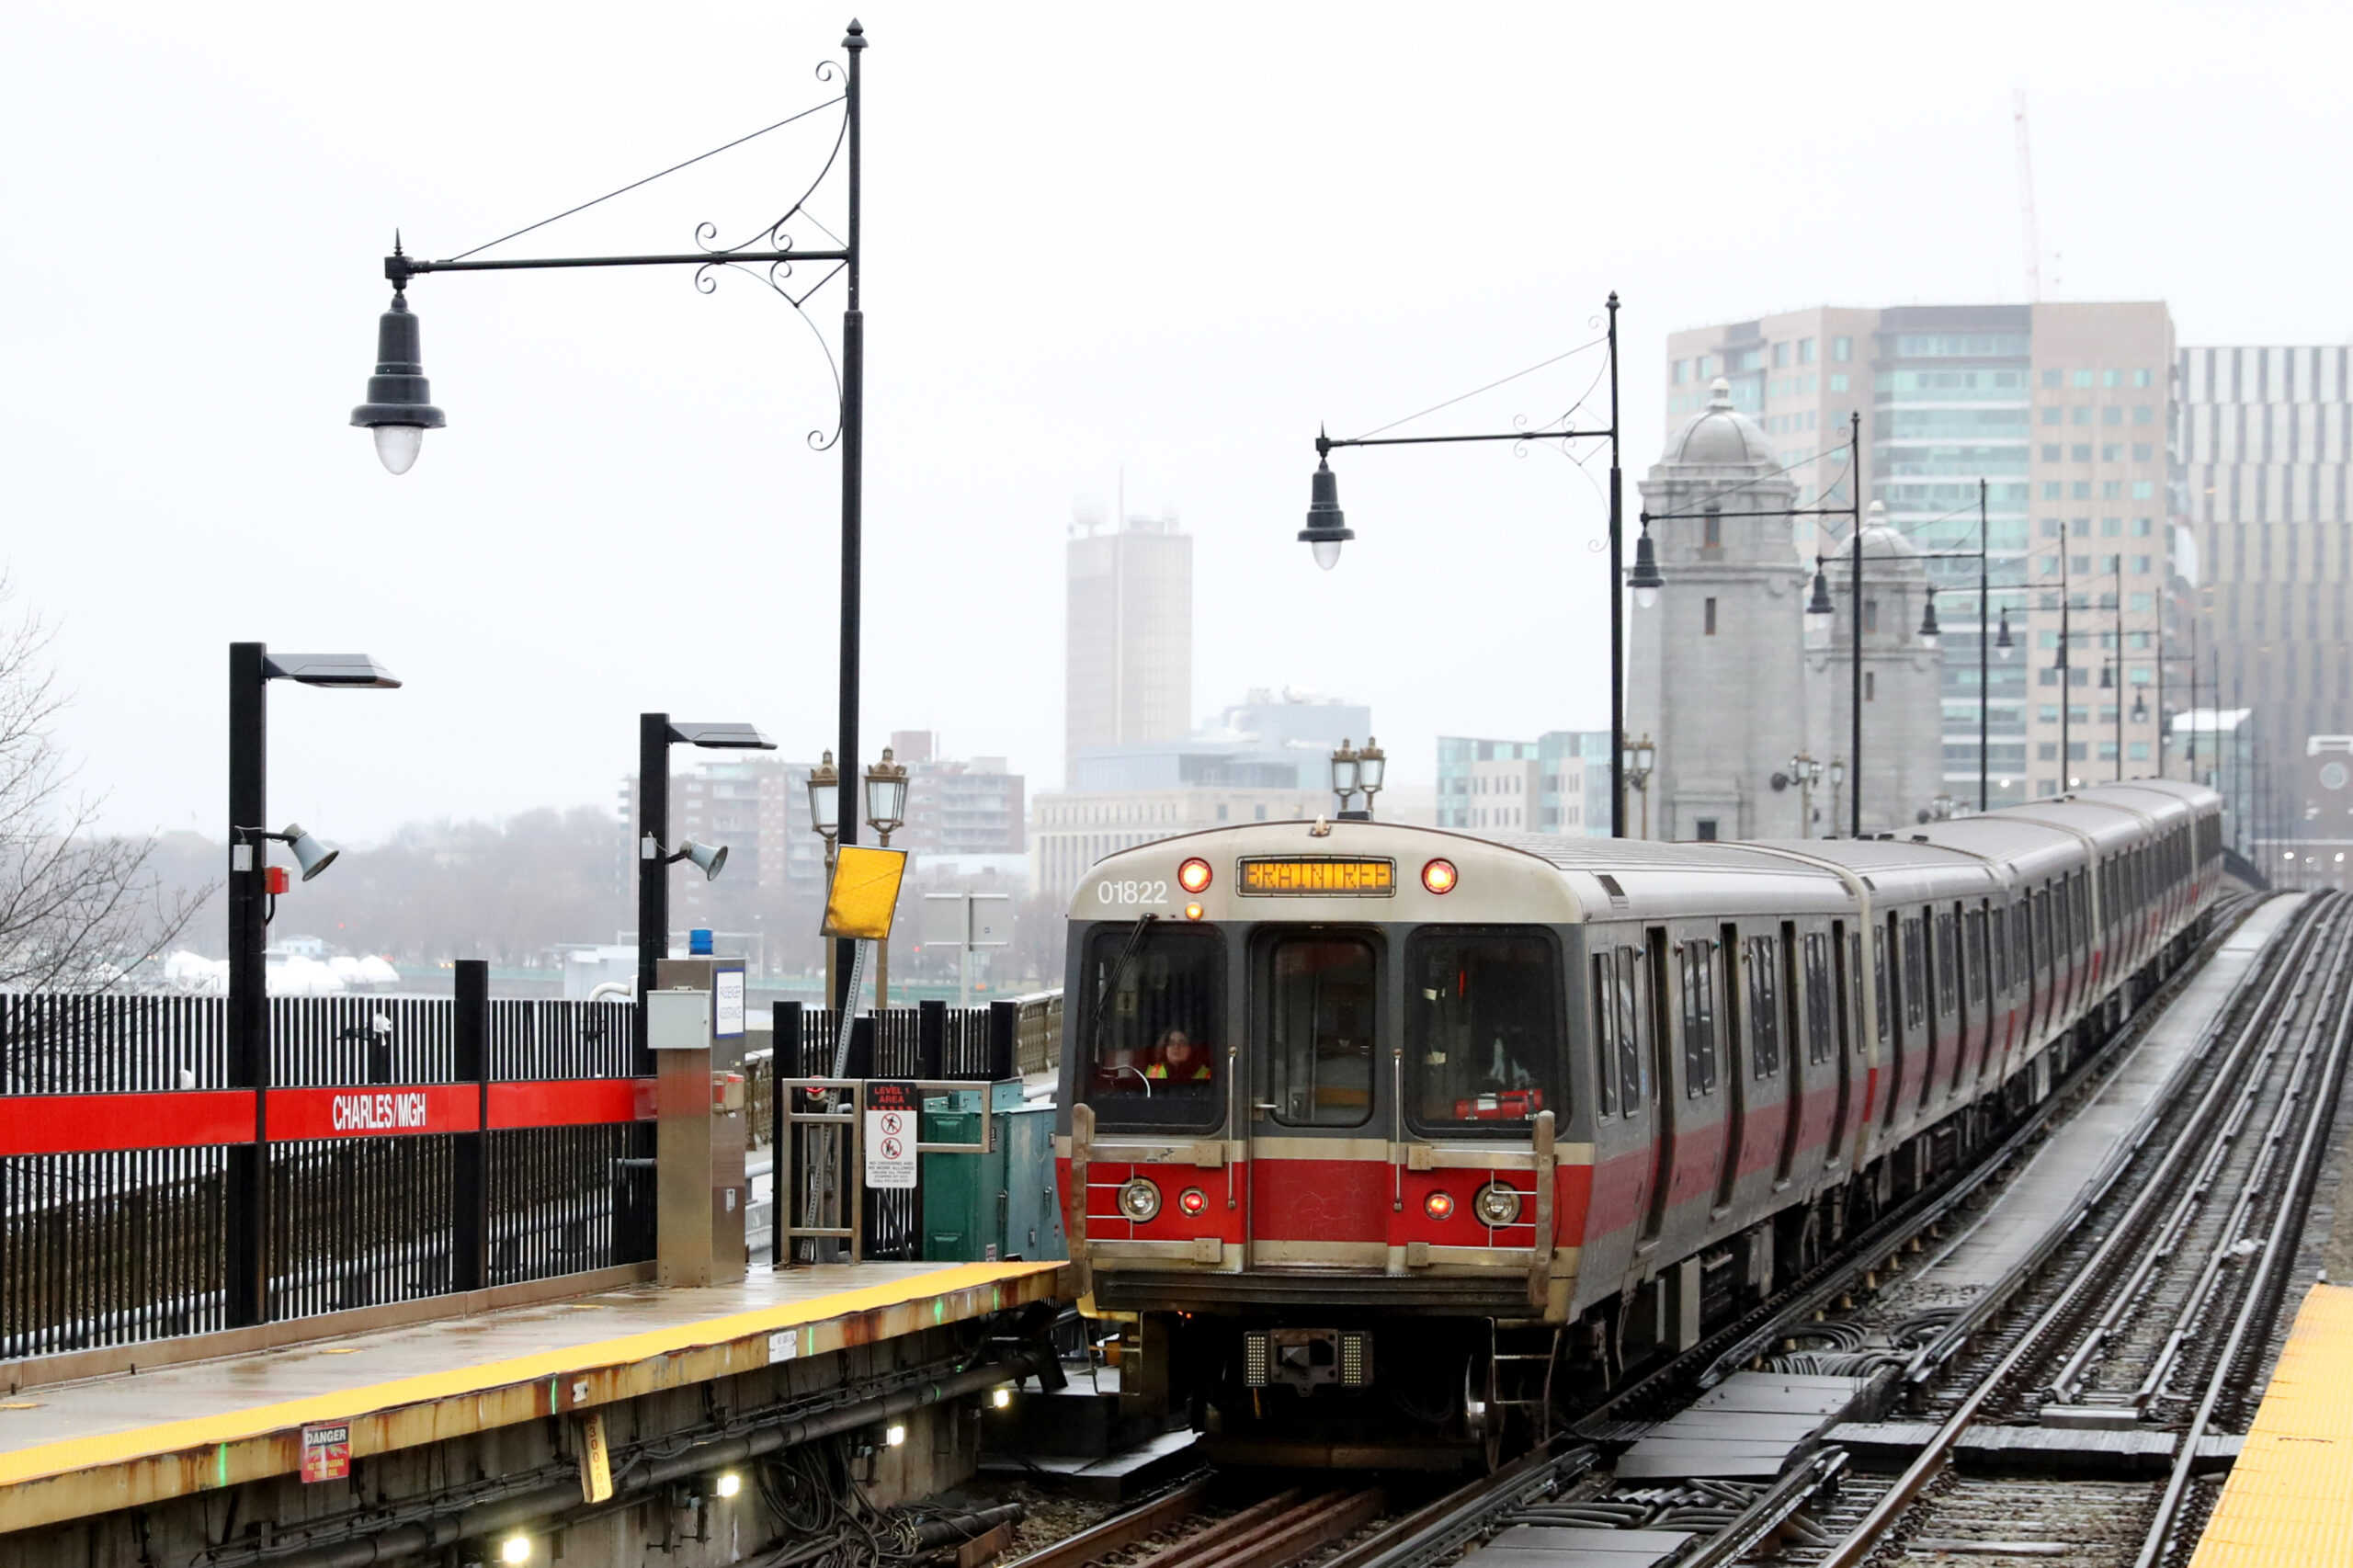
[[[219,996],[0,996],[0,1358],[228,1328],[256,1151],[271,1321],[649,1260],[633,1008],[471,989],[271,998],[268,1090],[226,1088]]]

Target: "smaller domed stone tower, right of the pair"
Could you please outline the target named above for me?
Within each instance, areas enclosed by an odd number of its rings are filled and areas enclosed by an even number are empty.
[[[1887,525],[1878,501],[1864,513],[1864,768],[1849,758],[1854,692],[1854,537],[1824,560],[1833,614],[1828,636],[1807,640],[1805,678],[1812,756],[1847,765],[1847,789],[1861,784],[1864,833],[1908,833],[1937,815],[1944,793],[1944,666],[1920,636],[1927,619],[1927,560]],[[1809,617],[1824,619],[1824,617]],[[1972,749],[1974,763],[1974,749]],[[1974,805],[1974,796],[1969,805]],[[1817,791],[1814,805],[1826,805]],[[1845,836],[1852,805],[1824,812],[1817,836]]]

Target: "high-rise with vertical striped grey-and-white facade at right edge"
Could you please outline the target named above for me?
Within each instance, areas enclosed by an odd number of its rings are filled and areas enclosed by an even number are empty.
[[[2198,702],[2252,709],[2287,784],[2311,737],[2353,732],[2353,348],[2184,348],[2174,384]],[[2186,709],[2188,666],[2165,680]]]

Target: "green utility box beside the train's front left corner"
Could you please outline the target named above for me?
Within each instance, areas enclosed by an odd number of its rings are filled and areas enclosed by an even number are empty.
[[[995,1121],[988,1154],[922,1156],[925,1262],[1068,1257],[1054,1196],[1054,1102],[1024,1102],[1019,1078],[932,1095],[922,1102],[922,1142],[976,1144],[981,1116]]]

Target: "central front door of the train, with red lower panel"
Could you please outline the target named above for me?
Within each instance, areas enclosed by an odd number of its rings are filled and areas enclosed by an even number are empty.
[[[1388,1064],[1379,975],[1372,932],[1287,928],[1252,951],[1245,1236],[1254,1269],[1388,1260],[1393,1168],[1374,1121]]]

